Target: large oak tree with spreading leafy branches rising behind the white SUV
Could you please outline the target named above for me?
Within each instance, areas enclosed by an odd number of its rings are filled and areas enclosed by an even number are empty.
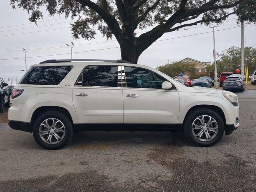
[[[232,14],[239,21],[256,22],[255,0],[10,0],[13,8],[23,8],[30,21],[43,17],[46,7],[50,16],[66,14],[77,20],[72,24],[74,38],[94,38],[95,27],[106,36],[114,35],[120,44],[122,60],[137,63],[140,54],[164,33],[180,28],[222,23]],[[137,28],[153,28],[134,36]]]

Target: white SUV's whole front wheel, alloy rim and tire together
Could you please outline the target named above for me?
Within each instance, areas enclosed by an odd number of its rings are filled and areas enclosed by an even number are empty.
[[[188,114],[184,120],[183,132],[192,144],[213,146],[224,134],[224,122],[217,112],[200,108]]]

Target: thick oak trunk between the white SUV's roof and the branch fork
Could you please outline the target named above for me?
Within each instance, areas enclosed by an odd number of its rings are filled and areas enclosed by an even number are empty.
[[[122,60],[137,64],[139,55],[135,44],[129,40],[124,40],[124,43],[120,45]]]

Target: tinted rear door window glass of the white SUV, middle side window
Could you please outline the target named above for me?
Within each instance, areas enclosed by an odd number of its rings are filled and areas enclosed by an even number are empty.
[[[88,66],[86,67],[76,85],[117,87],[118,66]]]

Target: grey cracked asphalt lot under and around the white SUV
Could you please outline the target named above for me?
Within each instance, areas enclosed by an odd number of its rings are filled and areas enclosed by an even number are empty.
[[[62,150],[0,124],[0,191],[256,191],[256,90],[236,93],[240,127],[215,146],[181,132],[79,132]]]

